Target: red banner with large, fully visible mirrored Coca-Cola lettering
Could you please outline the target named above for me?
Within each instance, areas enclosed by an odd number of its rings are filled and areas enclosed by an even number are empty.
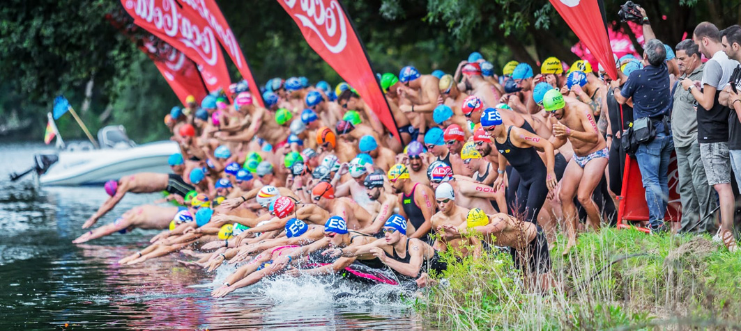
[[[121,0],[134,24],[172,45],[198,65],[209,91],[229,90],[224,55],[211,27],[175,0]]]

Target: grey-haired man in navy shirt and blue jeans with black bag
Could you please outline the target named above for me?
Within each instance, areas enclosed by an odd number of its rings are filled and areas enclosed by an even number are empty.
[[[643,61],[648,65],[631,72],[622,89],[619,80],[611,82],[610,88],[620,104],[633,98],[634,132],[639,142],[636,159],[646,188],[648,228],[652,233],[662,233],[667,230],[664,225],[669,196],[667,172],[674,150],[668,123],[671,90],[664,44],[651,39],[644,48]]]

